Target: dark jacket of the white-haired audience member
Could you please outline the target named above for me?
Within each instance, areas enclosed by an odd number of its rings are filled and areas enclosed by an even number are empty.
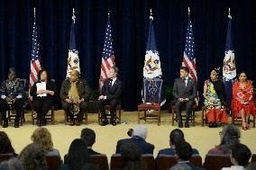
[[[138,136],[134,136],[131,139],[120,139],[117,141],[115,154],[121,153],[121,148],[123,144],[125,143],[133,143],[137,145],[140,149],[142,154],[153,154],[154,146],[148,142],[146,142],[144,139]]]

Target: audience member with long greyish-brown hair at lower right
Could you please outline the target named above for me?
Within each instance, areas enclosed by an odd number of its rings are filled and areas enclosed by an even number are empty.
[[[224,129],[219,133],[221,143],[215,148],[211,148],[208,154],[229,155],[234,145],[240,143],[240,130],[233,125],[225,125]]]

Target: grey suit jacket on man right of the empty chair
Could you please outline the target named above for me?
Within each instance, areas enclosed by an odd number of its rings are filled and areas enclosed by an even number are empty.
[[[176,78],[172,94],[175,100],[178,98],[188,98],[190,101],[194,101],[197,96],[197,85],[191,77],[187,79],[187,86],[185,85],[185,80],[182,78]]]

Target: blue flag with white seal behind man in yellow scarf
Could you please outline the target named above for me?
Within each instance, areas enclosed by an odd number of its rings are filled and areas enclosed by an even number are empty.
[[[68,67],[67,67],[67,77],[73,70],[78,70],[80,73],[80,64],[78,58],[78,49],[76,44],[76,31],[75,31],[75,12],[73,9],[73,16],[71,22],[71,30],[70,30],[70,39],[69,39],[69,58],[68,58]]]

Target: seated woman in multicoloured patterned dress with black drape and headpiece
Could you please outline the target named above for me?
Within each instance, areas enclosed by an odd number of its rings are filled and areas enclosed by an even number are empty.
[[[209,127],[217,127],[217,123],[227,123],[228,115],[225,110],[225,92],[224,83],[218,79],[219,68],[215,68],[211,72],[211,79],[206,80],[204,85],[204,97],[206,105],[206,116]]]

